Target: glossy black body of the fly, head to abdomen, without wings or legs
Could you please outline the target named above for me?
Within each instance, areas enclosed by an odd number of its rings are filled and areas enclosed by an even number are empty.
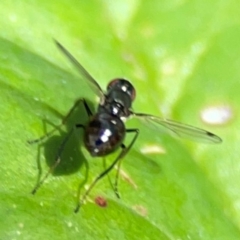
[[[135,89],[125,79],[112,80],[98,111],[87,124],[84,144],[92,156],[105,156],[122,144],[126,129],[121,118],[129,116]]]

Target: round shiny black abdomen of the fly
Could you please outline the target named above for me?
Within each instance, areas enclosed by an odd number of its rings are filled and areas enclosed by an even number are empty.
[[[125,137],[122,120],[102,112],[93,116],[84,134],[84,143],[92,156],[104,156],[115,151]]]

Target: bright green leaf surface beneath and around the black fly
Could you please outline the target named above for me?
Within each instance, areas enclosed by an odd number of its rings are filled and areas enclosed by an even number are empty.
[[[240,9],[237,1],[6,1],[0,3],[0,239],[239,239]],[[56,48],[62,43],[105,89],[125,77],[136,112],[216,132],[219,145],[174,139],[137,120],[140,136],[125,157],[117,199],[101,180],[80,212],[78,189],[103,171],[82,132],[53,164],[80,107],[42,145],[27,140],[60,124],[78,98],[96,109],[94,92]],[[219,125],[209,107],[232,114]],[[164,114],[162,114],[164,113]],[[131,136],[127,137],[129,143]],[[117,153],[106,157],[109,165]],[[42,174],[41,174],[42,173]],[[83,186],[84,185],[84,186]],[[106,207],[95,199],[103,197]]]

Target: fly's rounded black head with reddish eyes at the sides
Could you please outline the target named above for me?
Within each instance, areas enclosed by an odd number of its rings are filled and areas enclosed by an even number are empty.
[[[113,79],[107,86],[107,91],[110,90],[121,90],[126,92],[131,100],[133,101],[136,97],[136,91],[133,85],[126,79],[123,78],[115,78]]]

